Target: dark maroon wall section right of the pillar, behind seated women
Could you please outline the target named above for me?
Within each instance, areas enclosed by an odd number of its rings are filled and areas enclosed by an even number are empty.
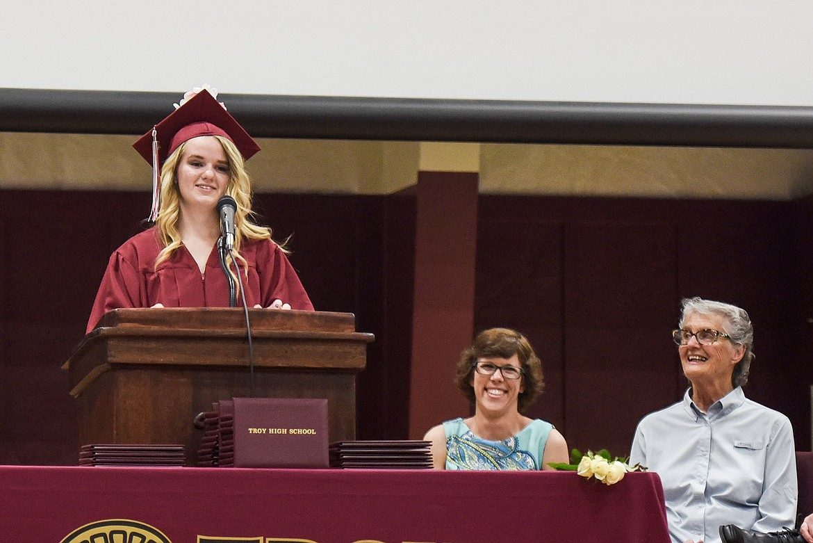
[[[476,328],[508,325],[540,351],[532,414],[568,445],[627,454],[641,416],[687,381],[669,332],[680,299],[749,311],[746,395],[789,415],[810,448],[810,200],[480,198]]]

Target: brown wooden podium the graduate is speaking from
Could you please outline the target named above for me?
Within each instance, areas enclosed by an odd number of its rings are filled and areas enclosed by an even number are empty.
[[[370,333],[350,313],[249,310],[254,397],[328,400],[329,441],[355,438],[355,380]],[[80,445],[183,444],[193,465],[193,419],[212,402],[250,396],[241,308],[117,309],[63,364],[80,403]],[[78,454],[78,452],[77,452]]]

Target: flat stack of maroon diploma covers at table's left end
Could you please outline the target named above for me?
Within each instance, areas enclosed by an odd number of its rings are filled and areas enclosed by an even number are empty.
[[[184,445],[82,445],[80,466],[182,467]]]

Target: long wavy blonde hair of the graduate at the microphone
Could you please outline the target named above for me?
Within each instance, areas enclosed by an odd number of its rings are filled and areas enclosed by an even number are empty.
[[[248,277],[248,267],[246,259],[240,254],[240,245],[243,240],[265,240],[271,237],[271,228],[259,226],[254,223],[254,212],[251,211],[251,180],[246,172],[246,163],[243,160],[240,151],[232,141],[225,137],[213,135],[220,146],[226,153],[228,159],[228,187],[226,194],[234,198],[237,202],[237,211],[234,214],[234,250],[233,254],[236,255],[243,267],[246,269],[246,278]],[[181,143],[176,150],[172,152],[164,161],[161,167],[161,202],[158,211],[158,218],[155,220],[155,227],[158,228],[159,237],[164,247],[163,250],[155,258],[155,267],[158,269],[159,265],[168,258],[176,250],[180,249],[183,241],[180,239],[180,230],[178,229],[178,222],[180,220],[180,190],[178,189],[177,169],[180,158],[184,154],[186,142]],[[284,252],[285,247],[278,244],[280,249]],[[232,271],[232,259],[228,258],[229,273],[234,276]],[[235,280],[237,278],[235,277]],[[236,283],[239,285],[239,283]],[[238,287],[239,288],[239,287]]]

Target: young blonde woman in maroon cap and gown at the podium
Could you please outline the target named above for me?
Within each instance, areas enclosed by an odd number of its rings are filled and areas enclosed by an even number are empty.
[[[312,311],[284,248],[272,241],[269,228],[252,221],[244,163],[259,146],[208,89],[187,93],[176,107],[133,145],[153,163],[154,226],[111,255],[87,331],[121,307],[228,307],[229,283],[217,247],[217,203],[224,195],[237,204],[232,254],[241,282],[227,256],[236,288],[245,289],[237,299],[245,294],[249,307]]]

